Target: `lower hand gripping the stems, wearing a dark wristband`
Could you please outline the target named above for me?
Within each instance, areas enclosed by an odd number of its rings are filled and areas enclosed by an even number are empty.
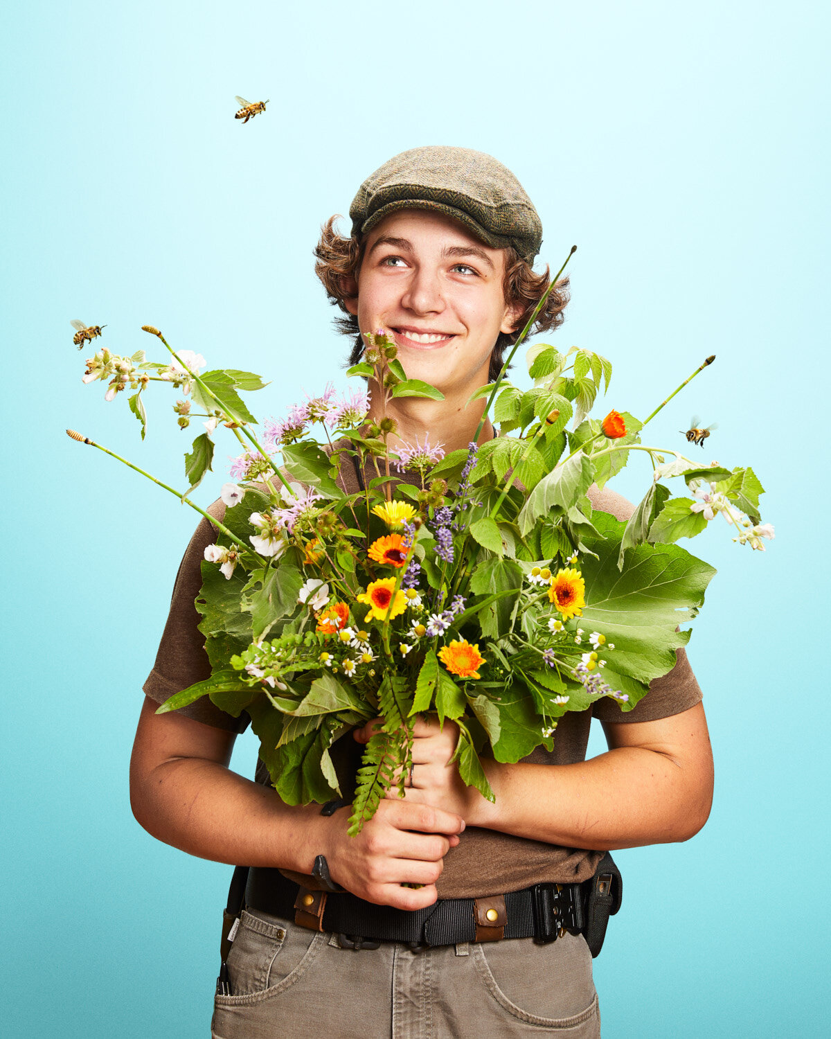
[[[326,821],[321,850],[333,881],[367,902],[397,909],[423,909],[435,902],[445,855],[464,829],[459,816],[396,798],[381,801],[355,837],[348,836],[346,819],[346,811],[338,811]]]

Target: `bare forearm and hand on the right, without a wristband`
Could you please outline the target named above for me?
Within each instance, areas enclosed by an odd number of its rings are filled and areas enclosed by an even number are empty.
[[[687,841],[709,815],[713,754],[700,703],[659,721],[606,724],[610,749],[587,762],[483,760],[494,804],[465,787],[456,767],[448,765],[456,726],[446,722],[444,732],[437,723],[420,726],[414,787],[406,797],[456,811],[468,826],[567,848],[609,850]]]

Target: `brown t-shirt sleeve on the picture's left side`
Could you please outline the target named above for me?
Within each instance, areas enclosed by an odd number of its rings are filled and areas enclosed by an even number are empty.
[[[221,501],[216,501],[207,511],[221,522],[224,506]],[[170,612],[167,614],[156,663],[142,687],[144,693],[157,703],[163,703],[173,693],[187,689],[194,682],[210,677],[211,664],[205,651],[205,636],[197,627],[202,618],[196,612],[194,600],[202,588],[200,564],[205,558],[206,545],[215,540],[216,528],[203,520],[179,565]],[[235,718],[220,711],[207,696],[180,708],[177,714],[231,732],[242,732],[249,721],[244,712],[239,718]]]

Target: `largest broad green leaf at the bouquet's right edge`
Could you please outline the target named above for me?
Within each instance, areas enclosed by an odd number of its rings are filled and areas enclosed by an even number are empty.
[[[649,683],[675,664],[675,650],[690,639],[676,625],[696,615],[716,570],[677,545],[640,544],[626,552],[621,572],[624,525],[606,512],[592,518],[602,537],[588,541],[597,558],[581,560],[587,595],[581,627],[614,644],[605,650],[611,668]]]

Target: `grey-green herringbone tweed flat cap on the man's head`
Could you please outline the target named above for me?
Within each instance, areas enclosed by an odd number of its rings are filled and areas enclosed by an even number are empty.
[[[352,199],[352,235],[366,234],[399,209],[452,216],[485,244],[512,245],[529,263],[542,244],[542,223],[519,181],[492,156],[470,148],[413,148],[394,156]]]

